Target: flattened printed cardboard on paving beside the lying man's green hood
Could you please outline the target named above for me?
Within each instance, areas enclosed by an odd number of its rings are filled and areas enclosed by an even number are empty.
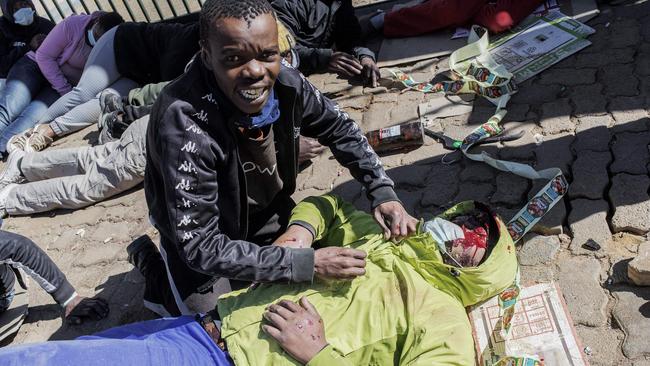
[[[500,336],[496,296],[470,309],[477,365],[503,356],[536,356],[553,366],[588,366],[564,298],[554,283],[522,288],[508,340]]]

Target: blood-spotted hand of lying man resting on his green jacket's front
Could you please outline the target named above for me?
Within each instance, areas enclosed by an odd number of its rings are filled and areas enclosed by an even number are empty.
[[[300,304],[282,300],[270,305],[264,319],[269,322],[262,325],[264,333],[303,365],[327,346],[323,320],[305,297],[300,299]]]

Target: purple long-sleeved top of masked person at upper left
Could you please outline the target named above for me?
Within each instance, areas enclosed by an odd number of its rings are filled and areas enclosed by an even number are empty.
[[[101,15],[72,15],[65,18],[47,35],[36,51],[36,62],[52,87],[64,95],[81,78],[88,55],[92,50],[86,43],[88,24]]]

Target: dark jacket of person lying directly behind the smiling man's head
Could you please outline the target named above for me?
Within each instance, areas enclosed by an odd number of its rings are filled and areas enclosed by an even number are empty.
[[[327,68],[332,47],[375,59],[361,44],[361,26],[352,0],[271,0],[278,18],[296,37],[300,71],[309,74]]]

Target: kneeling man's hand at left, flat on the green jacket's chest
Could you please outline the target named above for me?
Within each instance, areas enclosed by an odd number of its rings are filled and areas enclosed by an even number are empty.
[[[366,252],[327,247],[314,252],[314,274],[322,279],[351,280],[366,274]]]

